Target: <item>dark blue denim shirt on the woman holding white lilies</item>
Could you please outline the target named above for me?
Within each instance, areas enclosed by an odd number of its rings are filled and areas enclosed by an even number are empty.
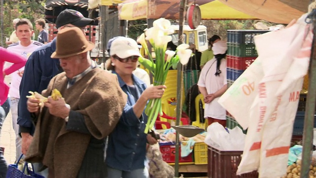
[[[117,74],[115,71],[112,73]],[[146,89],[146,84],[134,75],[132,78],[140,96]],[[143,112],[141,118],[136,117],[133,111],[135,104],[133,95],[119,76],[118,82],[127,94],[127,103],[118,125],[109,135],[106,162],[109,167],[122,171],[143,169],[146,159],[147,134],[144,131],[147,116]]]

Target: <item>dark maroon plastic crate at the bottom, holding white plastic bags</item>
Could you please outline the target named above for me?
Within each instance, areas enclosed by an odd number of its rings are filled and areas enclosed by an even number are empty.
[[[208,146],[207,177],[209,178],[258,178],[258,172],[236,175],[242,151],[220,151]]]

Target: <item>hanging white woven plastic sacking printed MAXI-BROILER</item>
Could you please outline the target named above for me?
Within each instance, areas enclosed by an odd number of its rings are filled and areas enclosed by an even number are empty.
[[[313,39],[304,20],[305,16],[290,28],[256,36],[259,57],[218,101],[248,128],[237,175],[259,170],[260,178],[274,178],[286,173]]]

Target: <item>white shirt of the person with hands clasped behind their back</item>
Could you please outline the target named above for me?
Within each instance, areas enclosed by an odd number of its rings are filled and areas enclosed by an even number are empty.
[[[226,78],[226,59],[221,60],[221,65],[219,69],[221,74],[215,76],[216,73],[216,59],[207,61],[201,70],[201,73],[198,78],[197,85],[199,87],[205,87],[208,94],[215,93],[217,90],[221,89],[224,85],[227,84]],[[219,97],[215,98],[210,103],[205,103],[204,107],[204,118],[211,117],[214,119],[226,119],[226,110],[217,102]]]

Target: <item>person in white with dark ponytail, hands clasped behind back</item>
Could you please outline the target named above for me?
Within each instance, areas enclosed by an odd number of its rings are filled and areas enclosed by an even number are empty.
[[[208,125],[218,122],[226,127],[226,110],[217,102],[227,90],[226,42],[214,43],[212,50],[214,57],[202,68],[197,86],[204,96],[204,118],[207,119]]]

